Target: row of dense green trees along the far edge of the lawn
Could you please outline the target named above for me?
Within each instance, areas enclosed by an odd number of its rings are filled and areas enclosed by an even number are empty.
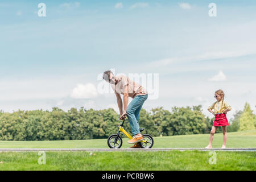
[[[52,111],[31,110],[5,113],[0,110],[0,140],[78,140],[107,138],[117,133],[119,115],[113,109],[63,111],[53,107]],[[249,122],[247,121],[249,119]],[[246,105],[245,110],[235,114],[229,131],[255,129],[255,115]],[[209,133],[214,118],[205,117],[201,105],[174,107],[171,111],[163,107],[141,110],[139,125],[152,136],[170,136]],[[247,121],[247,122],[246,122]],[[253,121],[253,124],[251,124]],[[129,121],[125,129],[130,132]]]

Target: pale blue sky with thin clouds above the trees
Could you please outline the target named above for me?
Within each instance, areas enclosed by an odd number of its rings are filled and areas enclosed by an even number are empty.
[[[113,94],[72,97],[111,68],[159,73],[148,110],[201,104],[209,115],[217,89],[229,117],[245,102],[255,110],[255,9],[255,1],[1,1],[0,109],[117,109]]]

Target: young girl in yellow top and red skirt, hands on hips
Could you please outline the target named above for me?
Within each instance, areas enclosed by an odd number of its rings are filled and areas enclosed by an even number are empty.
[[[218,129],[219,126],[222,126],[222,131],[224,135],[223,144],[221,148],[226,148],[226,126],[229,125],[228,119],[226,118],[226,114],[228,111],[232,109],[228,103],[224,101],[224,92],[222,90],[217,90],[215,92],[216,102],[213,105],[209,106],[208,110],[210,113],[215,115],[215,120],[212,126],[212,130],[210,131],[210,140],[209,145],[205,148],[212,148],[212,140],[215,131]],[[214,112],[212,111],[214,109]]]

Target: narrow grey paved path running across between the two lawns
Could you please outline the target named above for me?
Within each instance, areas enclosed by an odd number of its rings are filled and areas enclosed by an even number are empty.
[[[199,150],[199,151],[254,151],[256,148],[0,148],[0,152],[36,152],[36,151],[86,151],[86,152],[114,152],[114,151],[172,151],[172,150]]]

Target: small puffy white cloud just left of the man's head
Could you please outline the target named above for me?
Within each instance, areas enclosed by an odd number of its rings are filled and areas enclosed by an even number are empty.
[[[94,98],[98,96],[96,87],[93,84],[78,84],[76,88],[72,90],[72,98]]]

